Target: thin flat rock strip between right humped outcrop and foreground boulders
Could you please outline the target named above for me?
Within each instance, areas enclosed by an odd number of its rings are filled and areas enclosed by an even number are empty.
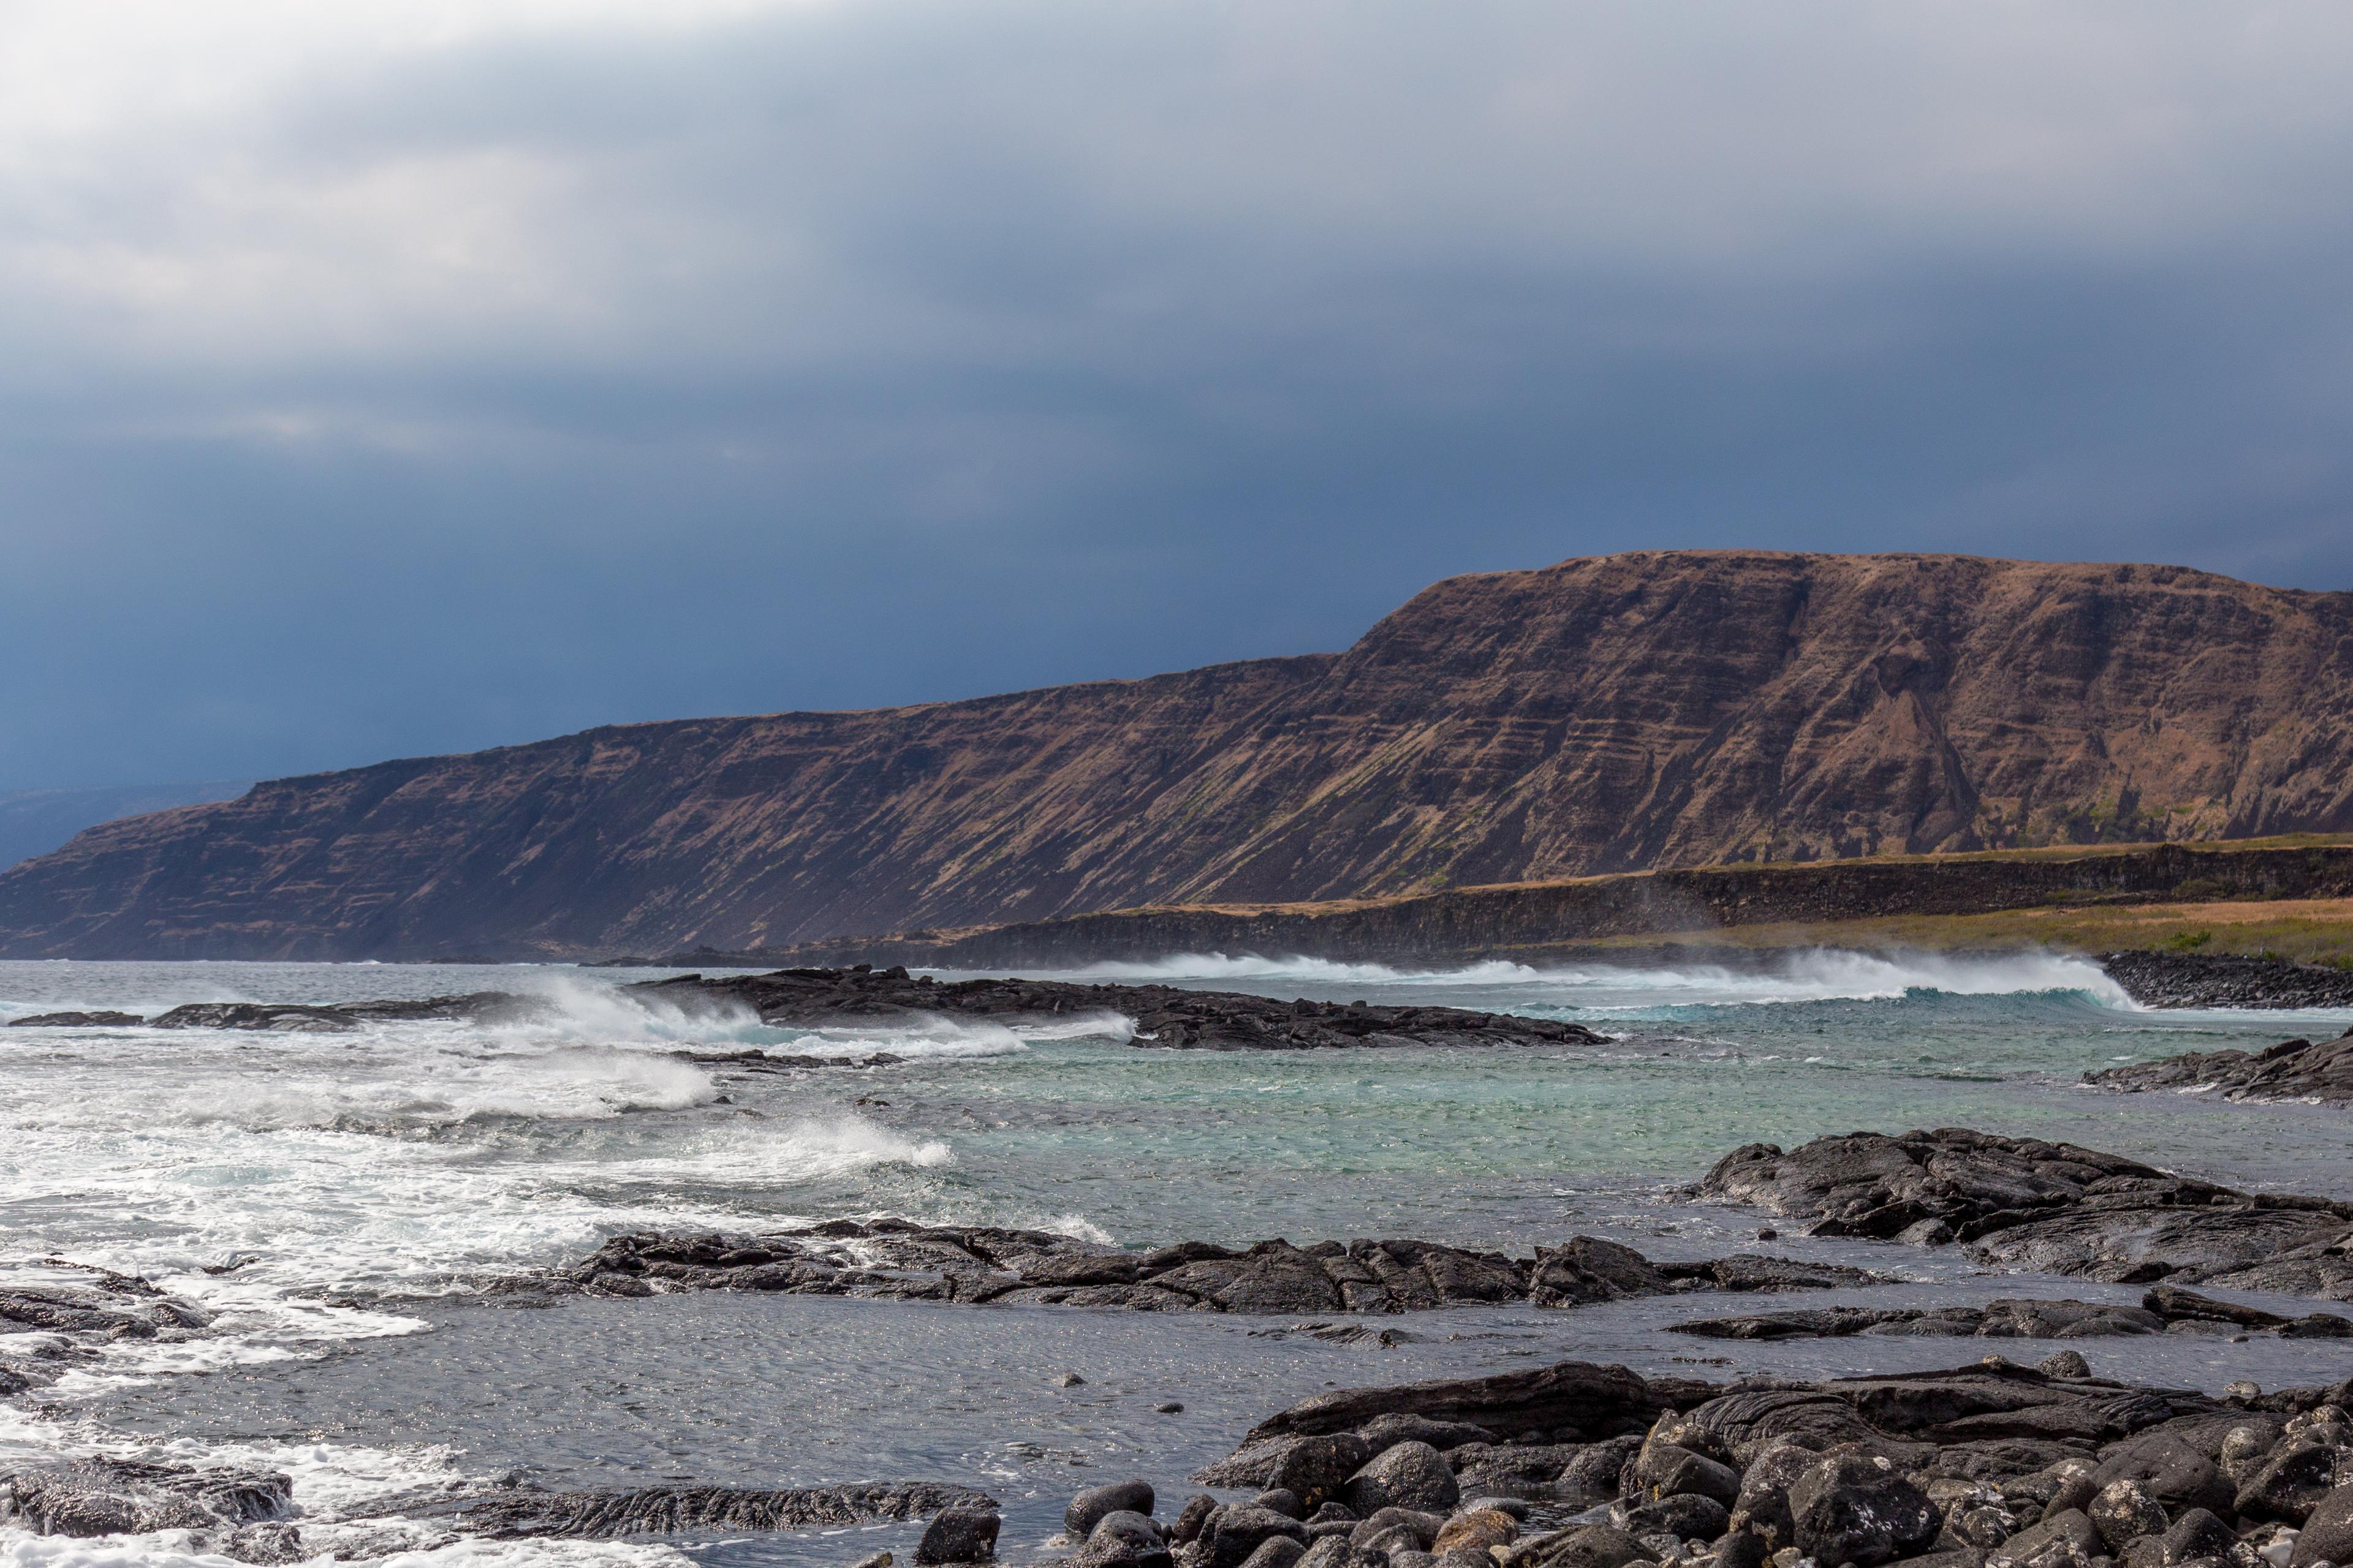
[[[1880,1338],[1979,1338],[1979,1340],[2092,1340],[2137,1333],[2273,1333],[2287,1340],[2353,1340],[2353,1319],[2334,1312],[2280,1316],[2261,1307],[2221,1302],[2179,1286],[2158,1286],[2139,1307],[2078,1300],[1995,1300],[1984,1307],[1812,1307],[1800,1312],[1753,1312],[1694,1324],[1671,1333],[1704,1340],[1842,1340]]]

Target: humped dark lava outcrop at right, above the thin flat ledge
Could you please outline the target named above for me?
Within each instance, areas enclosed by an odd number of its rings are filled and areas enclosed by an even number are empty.
[[[1753,1143],[1706,1197],[1812,1220],[1817,1237],[1967,1244],[1969,1255],[2111,1284],[2217,1284],[2353,1300],[2353,1204],[2249,1194],[2073,1143],[1967,1128]]]

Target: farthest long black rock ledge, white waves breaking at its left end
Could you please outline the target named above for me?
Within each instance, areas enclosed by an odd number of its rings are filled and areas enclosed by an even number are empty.
[[[678,976],[626,994],[685,1011],[741,1006],[760,1023],[824,1027],[852,1020],[979,1018],[1047,1023],[1125,1016],[1134,1044],[1188,1051],[1322,1051],[1334,1046],[1593,1046],[1602,1037],[1574,1023],[1473,1013],[1449,1006],[1365,1006],[1360,1001],[1278,1001],[1242,992],[1174,985],[1073,985],[1061,980],[953,980],[906,969],[779,969],[765,976]]]

